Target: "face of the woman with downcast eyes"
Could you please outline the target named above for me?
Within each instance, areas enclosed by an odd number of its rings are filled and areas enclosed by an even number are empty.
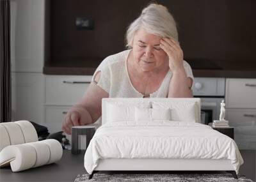
[[[147,33],[141,28],[134,34],[132,54],[143,72],[168,66],[168,55],[160,48],[161,37]]]

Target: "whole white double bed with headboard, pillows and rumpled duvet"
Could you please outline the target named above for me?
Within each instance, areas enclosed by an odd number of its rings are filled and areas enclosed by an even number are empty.
[[[243,158],[230,137],[200,123],[200,98],[104,98],[84,155],[99,171],[227,171]]]

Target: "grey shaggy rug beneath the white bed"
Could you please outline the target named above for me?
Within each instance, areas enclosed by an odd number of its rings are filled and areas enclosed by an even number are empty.
[[[99,174],[93,175],[92,179],[88,179],[89,174],[78,175],[75,182],[86,182],[86,181],[172,181],[172,182],[187,182],[187,181],[210,181],[210,182],[221,182],[221,181],[243,181],[253,182],[251,179],[246,179],[244,176],[237,176],[238,179],[234,179],[232,174]]]

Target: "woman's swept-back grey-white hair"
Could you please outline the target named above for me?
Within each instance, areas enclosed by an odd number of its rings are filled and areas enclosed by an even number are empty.
[[[168,9],[161,4],[149,4],[142,10],[140,17],[128,27],[126,32],[126,46],[128,48],[132,47],[134,34],[141,27],[148,33],[161,37],[172,37],[177,42],[179,41],[176,22]]]

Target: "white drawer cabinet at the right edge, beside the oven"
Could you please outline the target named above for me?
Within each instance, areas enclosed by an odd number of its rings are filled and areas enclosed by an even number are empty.
[[[225,116],[239,149],[256,149],[256,79],[226,79]]]

